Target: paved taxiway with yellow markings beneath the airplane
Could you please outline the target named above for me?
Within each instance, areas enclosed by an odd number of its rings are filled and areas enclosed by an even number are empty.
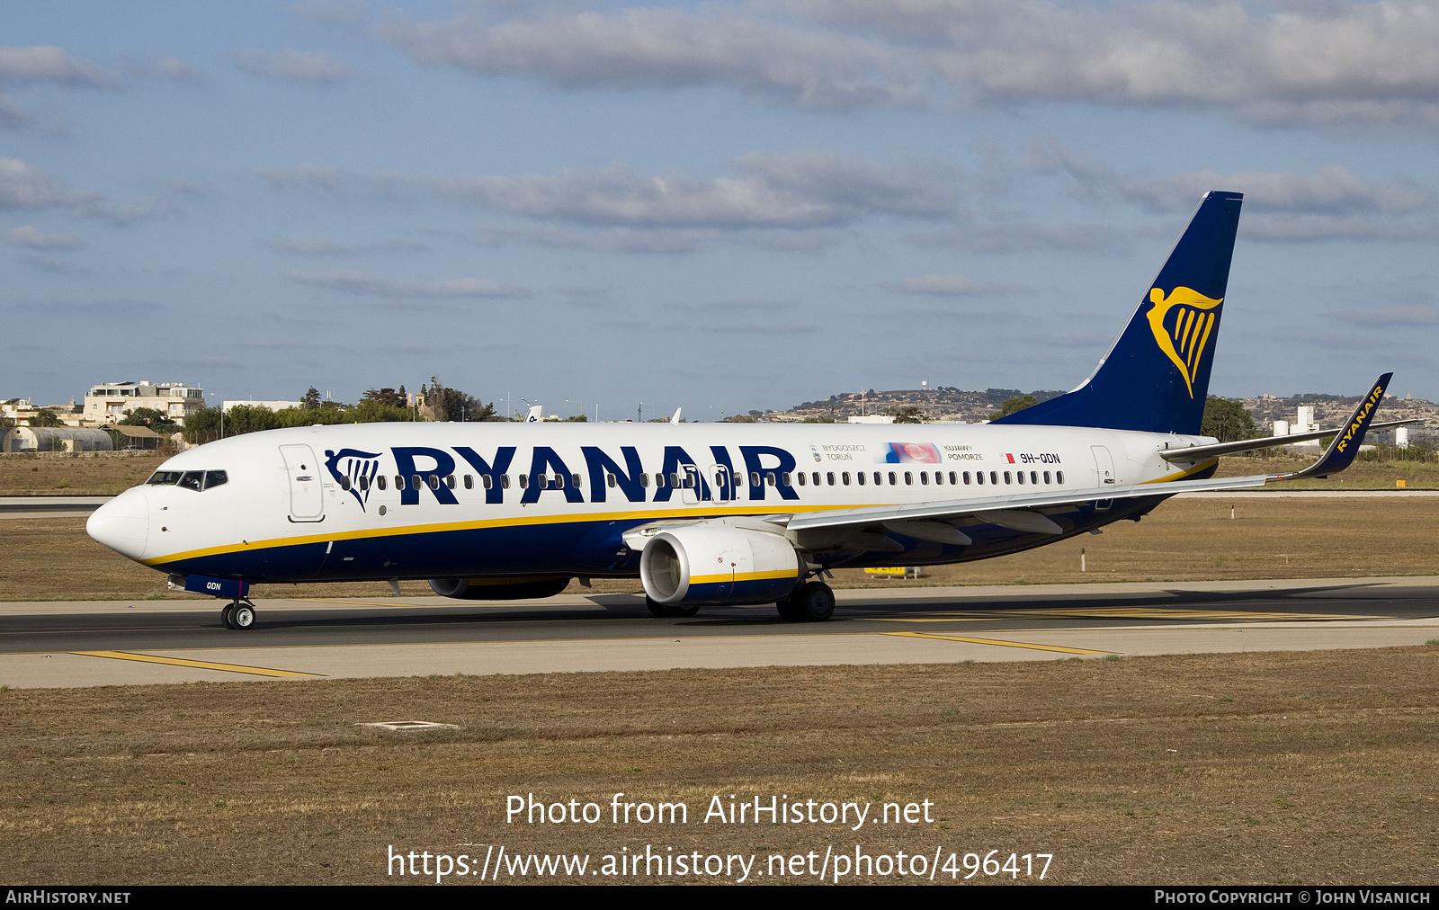
[[[128,685],[767,665],[1102,659],[1423,645],[1439,577],[837,590],[825,623],[773,606],[656,619],[633,595],[0,605],[0,684]]]

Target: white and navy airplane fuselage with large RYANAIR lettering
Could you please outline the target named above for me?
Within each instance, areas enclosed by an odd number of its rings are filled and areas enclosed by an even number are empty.
[[[124,492],[95,513],[89,530],[163,572],[249,582],[633,576],[637,554],[625,531],[656,521],[1179,479],[1209,472],[1215,461],[1171,464],[1158,452],[1204,442],[1212,441],[999,425],[315,426],[181,452],[157,475],[174,472],[168,478],[181,482]],[[1135,517],[1158,501],[1075,505],[1066,528]],[[997,527],[970,536],[963,547],[896,536],[904,553],[832,553],[819,562],[963,562],[1059,539]]]

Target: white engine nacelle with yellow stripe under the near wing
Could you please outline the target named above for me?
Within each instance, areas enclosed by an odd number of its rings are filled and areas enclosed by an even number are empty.
[[[665,605],[777,602],[803,573],[800,554],[780,534],[732,527],[661,531],[639,557],[645,593]]]

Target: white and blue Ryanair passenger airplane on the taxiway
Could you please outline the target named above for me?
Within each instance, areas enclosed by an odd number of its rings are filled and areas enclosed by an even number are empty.
[[[836,567],[1017,553],[1138,521],[1186,491],[1343,471],[1347,425],[1200,433],[1242,194],[1210,192],[1094,373],[984,425],[348,423],[232,436],[165,461],[86,531],[256,623],[252,585],[427,579],[446,598],[545,598],[639,577],[656,616],[774,603],[825,621]],[[1334,439],[1309,468],[1215,479],[1220,455]]]

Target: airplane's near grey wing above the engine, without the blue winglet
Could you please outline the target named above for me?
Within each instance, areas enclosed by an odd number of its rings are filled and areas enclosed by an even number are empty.
[[[974,518],[973,524],[1026,524],[1016,530],[1035,530],[1062,533],[1058,524],[1043,515],[1045,510],[1094,503],[1097,500],[1128,500],[1134,497],[1170,497],[1176,492],[1206,492],[1219,490],[1243,490],[1249,487],[1263,487],[1271,478],[1259,474],[1255,477],[1225,477],[1204,481],[1168,481],[1163,484],[1117,484],[1112,487],[1086,487],[1081,490],[1056,490],[1045,492],[1017,492],[994,497],[966,497],[957,500],[938,500],[931,503],[914,503],[909,505],[878,505],[868,508],[843,508],[812,514],[773,515],[767,518],[771,524],[778,524],[799,530],[839,528],[868,524],[904,524],[945,523],[953,524],[963,518]],[[1038,520],[1038,521],[1036,521]],[[1045,526],[1049,527],[1045,527]],[[899,527],[892,528],[908,533]],[[922,528],[911,528],[922,530]]]

